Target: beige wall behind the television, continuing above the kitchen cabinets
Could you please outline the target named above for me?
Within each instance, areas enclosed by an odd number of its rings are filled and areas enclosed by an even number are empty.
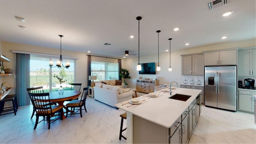
[[[169,84],[171,81],[176,81],[178,84],[182,83],[182,75],[181,75],[181,56],[182,54],[195,54],[200,53],[202,51],[208,50],[219,50],[219,49],[226,49],[226,48],[248,48],[248,47],[255,47],[256,46],[255,39],[253,40],[245,40],[240,42],[228,42],[222,44],[214,44],[208,46],[201,46],[197,48],[190,48],[186,50],[180,50],[171,52],[171,66],[172,72],[168,71],[170,65],[170,53],[162,53],[159,54],[159,65],[161,66],[161,71],[156,71],[156,75],[153,74],[142,74],[140,75],[138,71],[136,71],[136,65],[138,64],[138,57],[136,58],[126,58],[123,66],[126,67],[127,70],[130,71],[131,79],[128,79],[128,87],[136,88],[136,79],[139,76],[143,76],[143,78],[153,78],[156,76],[156,79],[159,80],[161,84]],[[148,62],[156,62],[156,66],[158,65],[158,54],[149,55],[149,56],[140,56],[140,63],[148,63]]]

